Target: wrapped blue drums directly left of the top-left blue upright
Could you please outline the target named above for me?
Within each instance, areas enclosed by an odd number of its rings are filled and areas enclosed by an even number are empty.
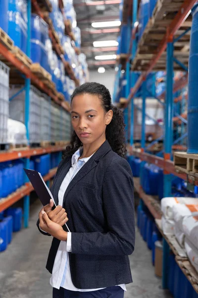
[[[7,1],[5,1],[7,2]],[[27,1],[8,0],[8,35],[15,46],[26,53],[27,47]],[[7,13],[7,12],[6,12]]]

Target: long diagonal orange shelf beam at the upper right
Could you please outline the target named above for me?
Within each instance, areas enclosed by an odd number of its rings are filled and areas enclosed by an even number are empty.
[[[154,58],[150,61],[150,64],[148,66],[147,71],[143,72],[139,79],[137,80],[135,86],[132,88],[131,93],[128,96],[128,101],[126,105],[129,104],[130,100],[133,98],[133,96],[138,91],[139,87],[142,85],[142,82],[144,81],[145,77],[151,72],[159,58],[161,57],[162,53],[165,51],[167,47],[167,42],[169,40],[173,40],[173,36],[176,33],[176,31],[179,29],[179,27],[184,22],[185,18],[189,15],[190,9],[193,7],[193,5],[197,2],[197,0],[184,0],[183,4],[181,5],[178,13],[176,14],[175,18],[172,20],[171,24],[167,27],[167,33],[164,35],[162,41],[160,42],[159,46],[156,49],[156,52],[153,54]],[[179,86],[181,88],[181,86]],[[175,91],[175,90],[174,90]]]

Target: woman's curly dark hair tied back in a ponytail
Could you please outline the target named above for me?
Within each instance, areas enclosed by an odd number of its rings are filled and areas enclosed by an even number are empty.
[[[127,150],[124,128],[126,125],[124,124],[123,112],[111,104],[111,95],[109,93],[109,90],[104,85],[101,85],[96,82],[85,83],[77,87],[71,96],[71,102],[76,95],[85,93],[98,95],[99,99],[101,100],[104,111],[113,111],[112,120],[106,126],[106,140],[109,142],[114,152],[125,158]],[[70,145],[66,147],[66,150],[63,153],[63,159],[67,156],[73,155],[75,151],[82,146],[82,142],[76,135],[76,132],[73,131]]]

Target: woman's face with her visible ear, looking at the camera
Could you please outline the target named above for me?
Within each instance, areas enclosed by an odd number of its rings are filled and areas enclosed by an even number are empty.
[[[113,112],[105,113],[97,95],[76,95],[71,103],[71,123],[83,144],[91,144],[105,137],[106,125]]]

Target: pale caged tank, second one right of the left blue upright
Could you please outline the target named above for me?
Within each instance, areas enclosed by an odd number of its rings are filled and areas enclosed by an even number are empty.
[[[50,141],[50,98],[41,95],[41,140]]]

